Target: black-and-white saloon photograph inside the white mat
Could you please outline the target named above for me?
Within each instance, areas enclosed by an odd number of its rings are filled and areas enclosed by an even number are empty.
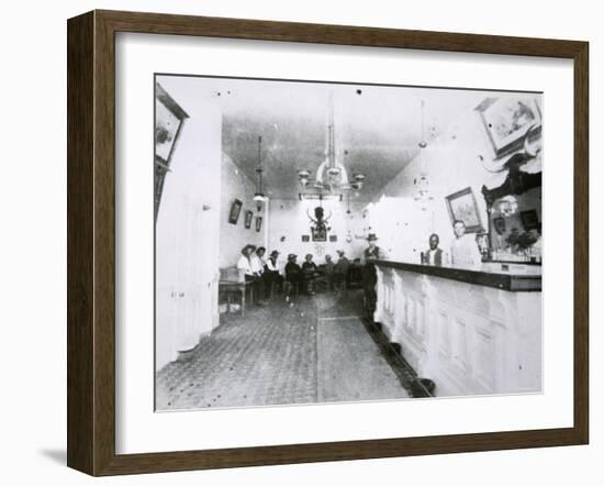
[[[155,90],[156,410],[541,390],[539,93]]]

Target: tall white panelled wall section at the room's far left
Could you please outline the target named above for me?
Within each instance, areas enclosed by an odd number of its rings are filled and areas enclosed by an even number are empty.
[[[156,369],[217,323],[222,115],[194,78],[163,86],[187,111],[156,224]]]

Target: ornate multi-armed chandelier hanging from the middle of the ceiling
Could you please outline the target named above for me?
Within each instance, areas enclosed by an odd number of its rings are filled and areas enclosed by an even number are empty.
[[[350,189],[362,188],[365,175],[354,174],[348,178],[346,167],[336,157],[335,121],[334,121],[334,93],[329,92],[329,112],[327,120],[327,154],[325,161],[316,169],[316,178],[312,180],[311,172],[302,169],[298,172],[298,180],[303,189],[312,188],[320,195],[342,195]]]

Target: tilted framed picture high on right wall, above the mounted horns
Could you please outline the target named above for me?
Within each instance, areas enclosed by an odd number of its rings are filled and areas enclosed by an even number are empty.
[[[541,109],[537,98],[512,100],[492,97],[480,103],[477,110],[497,157],[517,150],[525,135],[534,139],[540,133]]]

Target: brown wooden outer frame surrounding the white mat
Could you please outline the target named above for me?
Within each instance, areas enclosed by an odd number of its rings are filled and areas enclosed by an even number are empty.
[[[544,430],[116,454],[114,154],[118,32],[572,59],[573,424]],[[67,464],[70,467],[91,475],[114,475],[588,443],[588,43],[115,11],[93,11],[70,19],[67,35]]]

